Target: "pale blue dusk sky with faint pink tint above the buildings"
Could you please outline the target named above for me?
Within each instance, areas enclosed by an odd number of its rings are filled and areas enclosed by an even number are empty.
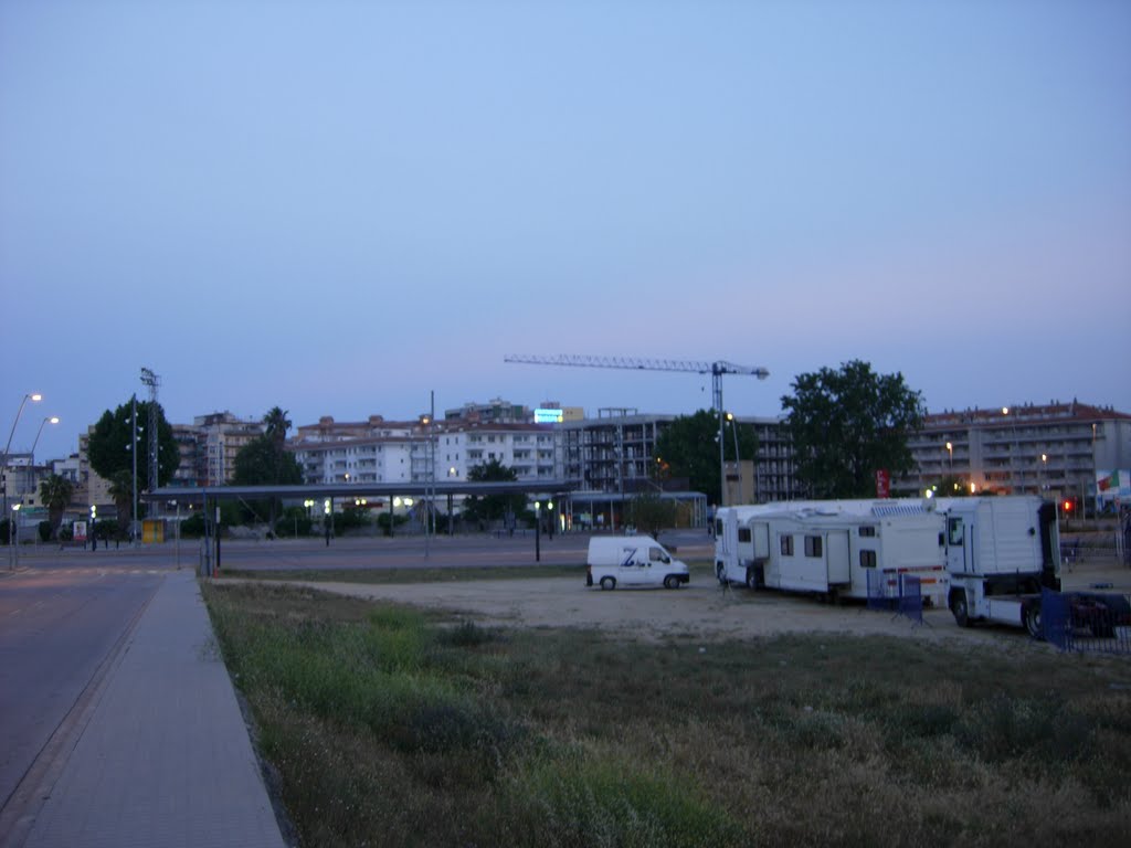
[[[740,416],[862,358],[1131,413],[1131,2],[0,0],[5,438],[502,397]]]

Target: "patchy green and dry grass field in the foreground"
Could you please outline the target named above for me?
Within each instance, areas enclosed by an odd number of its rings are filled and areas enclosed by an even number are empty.
[[[206,585],[304,846],[1125,845],[1131,666]]]

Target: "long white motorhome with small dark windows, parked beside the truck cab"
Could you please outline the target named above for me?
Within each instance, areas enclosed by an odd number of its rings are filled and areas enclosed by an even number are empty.
[[[786,501],[724,507],[716,514],[720,582],[813,592],[831,599],[897,597],[918,578],[942,606],[948,578],[942,521],[918,500]]]

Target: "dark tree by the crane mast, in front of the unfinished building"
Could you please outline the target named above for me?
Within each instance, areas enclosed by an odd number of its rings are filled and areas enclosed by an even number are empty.
[[[735,432],[731,429],[736,426]],[[723,450],[727,460],[734,460],[735,433],[739,439],[739,458],[753,459],[758,436],[749,424],[725,423]],[[688,487],[702,492],[717,501],[722,494],[718,457],[718,413],[700,409],[693,415],[681,415],[656,440],[656,467],[661,476],[687,477]]]

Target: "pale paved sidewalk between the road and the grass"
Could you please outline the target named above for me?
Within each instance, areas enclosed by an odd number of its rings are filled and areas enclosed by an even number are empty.
[[[88,716],[27,848],[284,846],[192,571],[165,578]]]

